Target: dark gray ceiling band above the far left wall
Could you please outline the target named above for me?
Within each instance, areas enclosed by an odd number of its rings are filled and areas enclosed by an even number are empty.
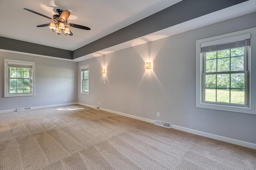
[[[29,43],[16,39],[10,39],[6,37],[0,37],[0,49],[72,60],[72,51],[49,47],[46,45]]]

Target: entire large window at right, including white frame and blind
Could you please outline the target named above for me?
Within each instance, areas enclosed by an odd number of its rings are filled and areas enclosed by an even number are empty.
[[[255,31],[196,41],[196,107],[255,114]]]

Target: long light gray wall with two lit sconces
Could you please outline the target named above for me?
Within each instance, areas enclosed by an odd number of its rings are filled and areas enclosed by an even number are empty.
[[[196,40],[256,27],[255,18],[252,13],[82,61],[78,102],[98,106],[100,101],[106,109],[256,143],[256,115],[195,107]],[[153,70],[145,72],[148,58]],[[90,64],[90,95],[80,94],[85,64]]]

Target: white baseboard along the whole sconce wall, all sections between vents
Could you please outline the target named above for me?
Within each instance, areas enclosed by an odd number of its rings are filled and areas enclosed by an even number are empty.
[[[94,106],[87,105],[87,104],[82,104],[82,103],[78,103],[78,104],[80,104],[82,106],[87,106],[87,107],[94,107]],[[114,113],[114,114],[130,117],[130,118],[134,118],[134,119],[138,119],[138,120],[141,120],[141,121],[146,121],[148,123],[155,123],[154,120],[146,119],[146,118],[138,117],[138,116],[134,116],[134,115],[129,115],[129,114],[126,114],[126,113],[121,113],[119,111],[113,111],[113,110],[104,109],[104,108],[101,108],[101,107],[100,107],[100,110],[108,111],[110,113]],[[212,133],[207,133],[207,132],[203,132],[203,131],[189,129],[189,128],[181,127],[181,126],[177,126],[177,125],[171,125],[171,128],[172,129],[177,129],[177,130],[180,130],[180,131],[184,131],[184,132],[188,132],[188,133],[192,133],[192,134],[195,134],[195,135],[203,136],[203,137],[208,137],[208,138],[211,138],[211,139],[216,139],[218,141],[232,143],[234,145],[239,145],[239,146],[242,146],[242,147],[256,149],[256,144],[255,143],[250,143],[250,142],[246,142],[246,141],[240,141],[240,140],[237,140],[237,139],[232,139],[232,138],[228,138],[228,137],[224,137],[224,136],[220,136],[220,135],[214,135]]]

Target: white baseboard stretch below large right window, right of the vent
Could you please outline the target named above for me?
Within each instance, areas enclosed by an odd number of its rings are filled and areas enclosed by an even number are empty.
[[[192,133],[192,134],[203,136],[203,137],[208,137],[208,138],[211,138],[211,139],[216,139],[218,141],[232,143],[232,144],[239,145],[239,146],[246,147],[246,148],[256,149],[256,144],[255,143],[240,141],[240,140],[237,140],[237,139],[232,139],[232,138],[228,138],[228,137],[224,137],[224,136],[220,136],[220,135],[214,135],[212,133],[207,133],[207,132],[203,132],[203,131],[189,129],[189,128],[181,127],[181,126],[177,126],[177,125],[172,125],[171,127],[173,129],[177,129],[177,130],[180,130],[180,131]]]

